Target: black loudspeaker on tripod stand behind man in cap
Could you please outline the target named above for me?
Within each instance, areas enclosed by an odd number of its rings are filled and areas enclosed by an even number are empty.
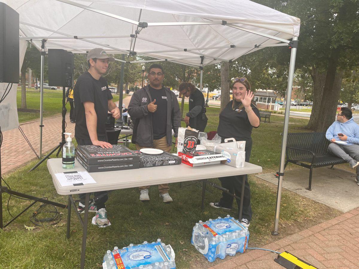
[[[64,49],[48,49],[48,85],[71,87],[74,54]]]

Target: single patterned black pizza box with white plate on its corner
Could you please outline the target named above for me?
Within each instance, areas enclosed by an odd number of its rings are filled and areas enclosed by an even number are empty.
[[[134,150],[140,156],[140,167],[153,167],[163,165],[181,164],[182,159],[176,155],[163,151],[161,154],[144,154],[139,150]]]

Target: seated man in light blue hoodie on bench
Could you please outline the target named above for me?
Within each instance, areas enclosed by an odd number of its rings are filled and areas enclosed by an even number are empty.
[[[337,120],[328,128],[325,135],[330,143],[328,151],[350,163],[356,168],[355,181],[359,185],[359,125],[352,118],[351,110],[342,107],[337,114]],[[345,141],[336,143],[335,141]]]

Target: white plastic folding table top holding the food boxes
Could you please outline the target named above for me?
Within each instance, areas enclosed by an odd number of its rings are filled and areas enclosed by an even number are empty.
[[[56,192],[62,195],[98,192],[103,190],[126,189],[163,183],[174,183],[198,179],[218,178],[222,176],[246,175],[261,173],[262,167],[246,162],[244,167],[235,168],[224,164],[213,164],[191,167],[186,164],[167,165],[157,167],[143,167],[139,169],[89,173],[96,181],[83,186],[62,187],[55,174],[70,171],[86,171],[75,160],[74,169],[62,169],[62,159],[49,159],[47,168],[52,176]]]

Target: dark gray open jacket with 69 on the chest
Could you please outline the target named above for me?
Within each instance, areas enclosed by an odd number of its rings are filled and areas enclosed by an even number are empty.
[[[173,91],[164,88],[167,94],[167,144],[172,145],[172,129],[174,137],[178,135],[178,128],[181,127],[180,105]],[[153,146],[152,113],[147,109],[147,105],[152,102],[149,87],[136,90],[131,97],[129,104],[129,115],[134,122],[132,143],[140,146]],[[169,117],[170,115],[170,117]]]

